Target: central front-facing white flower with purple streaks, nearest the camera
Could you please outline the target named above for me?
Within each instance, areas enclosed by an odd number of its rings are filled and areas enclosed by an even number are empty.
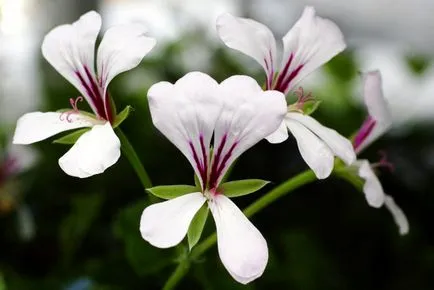
[[[154,125],[187,157],[200,189],[147,207],[140,221],[142,237],[159,248],[175,246],[199,209],[207,206],[228,272],[243,284],[261,276],[268,261],[267,243],[220,184],[237,157],[279,126],[286,113],[284,95],[264,92],[247,76],[218,84],[192,72],[175,84],[153,85],[148,99]]]

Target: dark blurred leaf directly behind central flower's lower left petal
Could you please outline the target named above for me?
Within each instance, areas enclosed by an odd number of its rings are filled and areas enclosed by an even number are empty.
[[[121,210],[114,224],[114,234],[123,240],[125,255],[139,276],[161,271],[174,263],[176,249],[159,249],[142,239],[139,230],[140,216],[149,202],[141,200]]]

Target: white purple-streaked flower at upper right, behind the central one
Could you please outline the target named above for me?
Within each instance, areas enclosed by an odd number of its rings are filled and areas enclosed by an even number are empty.
[[[307,75],[319,68],[346,47],[339,28],[328,19],[315,15],[306,7],[301,18],[283,37],[283,56],[277,68],[276,40],[263,24],[252,19],[223,14],[217,19],[217,31],[230,48],[254,58],[266,73],[265,88],[285,94],[293,91]],[[271,143],[288,138],[288,130],[297,140],[300,153],[318,178],[326,178],[333,170],[334,157],[351,164],[355,154],[351,142],[335,130],[322,126],[303,112],[303,95],[288,106],[288,114],[273,134]]]

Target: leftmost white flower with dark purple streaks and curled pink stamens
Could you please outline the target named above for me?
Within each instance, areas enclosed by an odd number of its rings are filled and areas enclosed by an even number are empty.
[[[145,36],[142,25],[111,27],[99,45],[95,69],[100,29],[101,17],[91,11],[45,36],[42,54],[81,96],[70,100],[73,108],[67,112],[25,114],[18,120],[13,140],[15,144],[31,144],[67,130],[91,128],[59,159],[63,171],[80,178],[102,173],[119,159],[120,141],[112,128],[115,112],[107,88],[115,76],[136,67],[155,45],[153,38]],[[78,101],[83,98],[93,114],[78,110]]]

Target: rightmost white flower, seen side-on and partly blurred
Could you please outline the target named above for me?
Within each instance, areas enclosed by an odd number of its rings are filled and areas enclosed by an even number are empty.
[[[371,71],[363,76],[363,97],[368,109],[368,117],[354,137],[353,145],[358,154],[368,145],[383,135],[392,125],[392,117],[381,89],[381,74]],[[385,157],[380,162],[371,164],[366,159],[359,159],[351,165],[357,174],[365,181],[363,192],[368,204],[379,208],[383,205],[391,212],[401,235],[409,231],[408,220],[393,198],[384,193],[381,182],[374,169],[379,166],[390,167]]]

